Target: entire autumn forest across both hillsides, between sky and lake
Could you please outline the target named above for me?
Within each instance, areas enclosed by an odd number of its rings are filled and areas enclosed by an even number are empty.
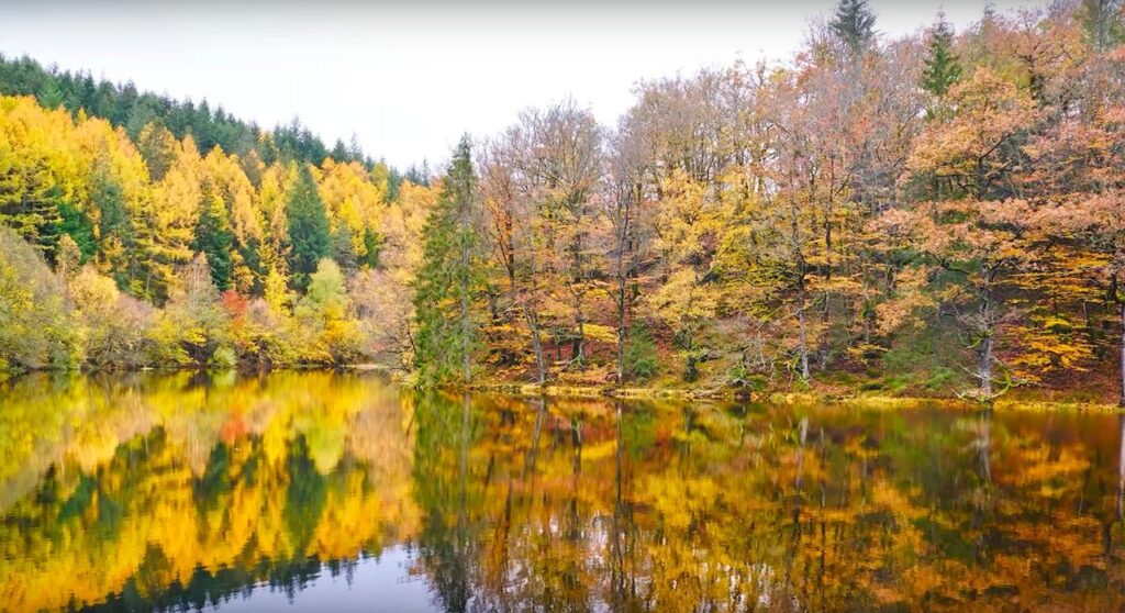
[[[433,173],[0,58],[0,372],[1125,404],[1123,42],[1115,0],[901,38],[842,0],[791,57]]]

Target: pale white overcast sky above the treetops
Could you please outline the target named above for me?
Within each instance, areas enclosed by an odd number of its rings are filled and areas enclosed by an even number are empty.
[[[573,96],[612,125],[638,80],[785,60],[835,3],[0,0],[0,52],[206,98],[262,126],[296,115],[330,146],[354,133],[366,152],[405,168],[444,160],[461,133],[494,134],[530,106]],[[983,4],[871,1],[889,35],[943,8],[960,29]]]

